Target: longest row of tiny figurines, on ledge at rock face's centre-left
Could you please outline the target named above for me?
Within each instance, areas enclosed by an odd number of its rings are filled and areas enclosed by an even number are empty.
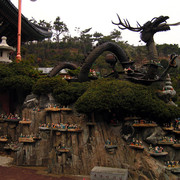
[[[58,128],[58,129],[78,129],[78,125],[77,124],[54,124],[54,123],[48,123],[48,124],[41,124],[40,127],[47,127],[47,128]]]

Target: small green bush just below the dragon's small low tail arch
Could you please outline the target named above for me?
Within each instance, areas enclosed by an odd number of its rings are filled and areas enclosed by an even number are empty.
[[[43,77],[38,79],[38,81],[33,86],[33,93],[41,95],[52,93],[56,88],[64,88],[67,85],[67,81],[62,80],[60,76],[56,77]]]

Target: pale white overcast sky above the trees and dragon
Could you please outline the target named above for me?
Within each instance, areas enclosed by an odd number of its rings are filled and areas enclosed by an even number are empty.
[[[11,0],[18,7],[18,0]],[[85,30],[92,27],[94,32],[109,35],[118,29],[111,21],[118,22],[116,13],[122,19],[128,19],[131,26],[137,21],[145,22],[160,15],[169,16],[168,23],[180,22],[180,0],[22,0],[22,13],[28,19],[32,17],[46,22],[53,22],[57,16],[61,18],[71,35],[75,27]],[[119,30],[119,29],[118,29]],[[139,42],[139,33],[121,30],[122,40],[131,45],[144,45]],[[171,27],[170,31],[159,32],[154,36],[156,44],[179,44],[180,26]]]

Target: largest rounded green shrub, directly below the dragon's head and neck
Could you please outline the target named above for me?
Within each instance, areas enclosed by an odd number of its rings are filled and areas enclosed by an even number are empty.
[[[180,109],[166,105],[143,85],[119,80],[97,80],[76,101],[79,112],[119,111],[125,115],[139,115],[154,120],[173,119]]]

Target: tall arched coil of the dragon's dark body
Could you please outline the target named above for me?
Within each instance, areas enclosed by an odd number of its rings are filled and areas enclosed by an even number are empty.
[[[128,56],[123,51],[123,49],[116,43],[106,42],[99,46],[97,46],[85,59],[85,62],[82,65],[81,71],[79,73],[79,81],[84,82],[88,81],[88,73],[93,62],[104,52],[110,51],[116,55],[118,60],[120,61],[123,68],[132,67],[133,62],[129,61]]]

